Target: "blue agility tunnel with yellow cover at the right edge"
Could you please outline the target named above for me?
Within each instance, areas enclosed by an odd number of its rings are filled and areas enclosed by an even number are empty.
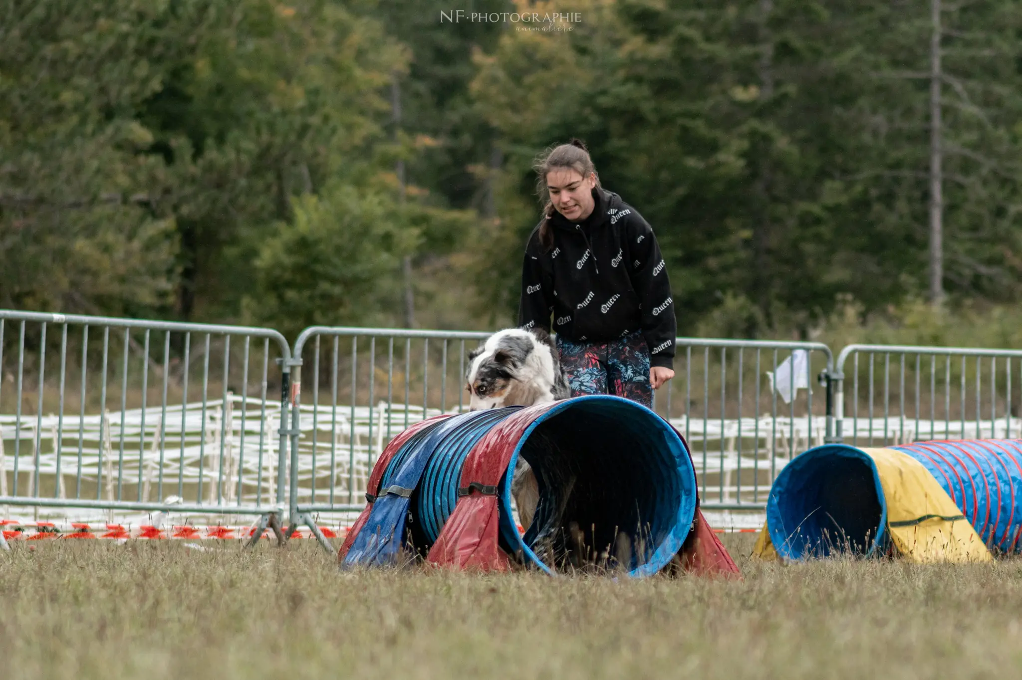
[[[827,444],[778,475],[754,553],[987,562],[1020,550],[1022,440]]]

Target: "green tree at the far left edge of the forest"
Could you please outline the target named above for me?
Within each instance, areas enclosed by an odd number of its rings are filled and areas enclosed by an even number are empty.
[[[0,306],[164,308],[180,180],[135,113],[178,58],[166,4],[7,0],[0,13]]]

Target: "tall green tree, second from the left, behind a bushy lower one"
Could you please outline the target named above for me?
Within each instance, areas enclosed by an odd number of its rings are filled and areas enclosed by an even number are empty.
[[[292,198],[377,171],[383,89],[405,57],[347,3],[207,5],[193,49],[140,116],[168,162],[189,169],[175,204],[180,313],[229,319],[249,292],[250,262],[292,218]]]

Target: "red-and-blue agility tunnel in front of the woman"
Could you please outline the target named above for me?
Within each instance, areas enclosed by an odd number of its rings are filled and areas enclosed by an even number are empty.
[[[519,456],[540,490],[523,534],[511,494]],[[554,574],[600,564],[642,577],[681,553],[684,569],[737,573],[701,519],[681,435],[615,396],[423,421],[390,442],[368,487],[338,553],[345,568],[394,565],[411,552],[462,569],[519,564]]]

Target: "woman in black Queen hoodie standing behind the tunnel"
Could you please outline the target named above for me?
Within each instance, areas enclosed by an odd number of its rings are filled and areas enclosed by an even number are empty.
[[[548,197],[528,238],[518,325],[557,333],[571,396],[616,394],[651,406],[675,377],[677,323],[653,230],[600,186],[578,140],[533,165]]]

